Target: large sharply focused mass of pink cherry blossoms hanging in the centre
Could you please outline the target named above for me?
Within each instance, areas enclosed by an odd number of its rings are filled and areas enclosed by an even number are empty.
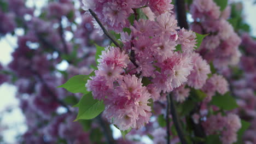
[[[129,2],[135,3],[135,1]],[[104,3],[84,1],[84,9],[94,9],[98,17],[102,18],[103,24],[109,20],[108,23],[120,23],[114,26],[129,27],[131,33],[121,33],[124,50],[120,50],[120,47],[107,47],[102,52],[98,59],[100,63],[98,70],[95,70],[95,76],[86,83],[86,87],[92,91],[95,99],[104,100],[106,104],[104,113],[109,122],[116,124],[120,130],[138,129],[144,123],[148,123],[151,116],[151,109],[148,106],[150,98],[154,101],[165,100],[166,94],[176,89],[177,101],[184,101],[189,95],[189,89],[184,88],[183,84],[188,82],[191,87],[202,88],[207,75],[211,73],[210,66],[194,52],[197,44],[196,34],[177,27],[177,20],[170,13],[173,5],[170,5],[170,10],[161,14],[159,10],[155,11],[161,3],[155,1],[155,7],[151,5],[150,9],[144,10],[150,17],[149,20],[137,19],[131,25],[128,21],[124,22],[127,20],[124,17],[129,17],[133,12],[119,16],[122,11],[119,10],[117,15],[111,15],[111,19],[108,20],[109,13],[98,11],[102,8],[113,9],[108,5],[109,3],[123,4],[112,1]],[[121,25],[121,23],[126,24]],[[107,28],[119,31],[118,27],[113,28],[109,24]],[[179,31],[176,31],[178,29]],[[178,46],[181,50],[177,50]],[[132,61],[132,58],[135,61]],[[148,79],[152,83],[147,87],[142,86],[142,79]]]

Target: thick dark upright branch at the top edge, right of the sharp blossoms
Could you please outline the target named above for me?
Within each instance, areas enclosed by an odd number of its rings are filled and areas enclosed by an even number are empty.
[[[176,14],[178,19],[179,27],[188,29],[187,14],[185,7],[185,0],[176,0]]]

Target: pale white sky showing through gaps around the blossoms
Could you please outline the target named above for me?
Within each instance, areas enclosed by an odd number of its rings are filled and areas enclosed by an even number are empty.
[[[34,7],[34,2],[36,3],[36,7],[38,8],[42,7],[45,4],[45,1],[27,0],[27,5],[29,5],[30,7]],[[252,28],[251,35],[256,37],[256,5],[252,4],[252,0],[244,0],[242,2],[244,5],[245,20]],[[36,13],[38,13],[38,11]],[[20,29],[18,29],[16,32],[20,35],[22,35],[23,33]],[[7,65],[11,61],[11,52],[13,52],[15,47],[17,46],[16,42],[17,38],[11,36],[10,34],[0,39],[0,62],[2,63],[2,65]],[[60,67],[66,66],[60,65]],[[17,134],[22,134],[26,131],[25,118],[18,107],[19,101],[15,98],[15,93],[16,88],[12,85],[4,83],[0,86],[0,115],[3,116],[2,122],[0,121],[0,125],[7,125],[9,127],[9,130],[4,131],[3,133],[4,140],[8,143],[14,143],[15,136]],[[13,107],[14,109],[9,113],[2,113],[2,111],[5,110],[6,107]],[[114,137],[118,137],[119,135],[120,132],[118,130],[114,130]],[[148,138],[143,137],[142,139],[147,140]]]

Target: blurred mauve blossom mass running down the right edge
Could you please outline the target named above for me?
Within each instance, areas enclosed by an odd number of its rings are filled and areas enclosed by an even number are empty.
[[[241,74],[234,77],[232,73],[228,73],[229,79],[231,81],[231,86],[234,89],[234,94],[237,97],[237,104],[239,108],[236,110],[237,114],[245,119],[246,121],[251,123],[251,126],[247,131],[245,131],[245,135],[243,136],[243,140],[247,143],[255,143],[255,124],[256,124],[256,97],[255,97],[255,47],[256,40],[254,40],[249,34],[243,33],[242,36],[242,44],[241,47],[243,49],[243,55],[241,57],[240,64],[238,65],[238,69],[240,69]]]

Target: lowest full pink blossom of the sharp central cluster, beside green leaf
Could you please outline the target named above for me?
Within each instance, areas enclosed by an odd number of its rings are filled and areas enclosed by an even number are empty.
[[[109,121],[113,117],[120,130],[141,128],[151,116],[147,88],[142,87],[141,79],[135,75],[125,75],[118,83],[115,93],[106,98],[106,117]]]

